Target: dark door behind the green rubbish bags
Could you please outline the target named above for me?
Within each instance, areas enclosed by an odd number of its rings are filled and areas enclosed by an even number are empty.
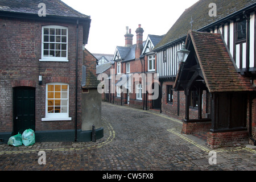
[[[35,88],[14,88],[14,134],[26,129],[35,131]]]

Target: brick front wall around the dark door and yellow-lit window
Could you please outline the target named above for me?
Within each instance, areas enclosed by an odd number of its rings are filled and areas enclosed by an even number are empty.
[[[76,24],[37,22],[36,20],[1,18],[0,26],[0,132],[13,131],[13,87],[33,86],[36,89],[36,130],[74,129],[76,78]],[[68,27],[68,62],[44,62],[41,59],[42,26]],[[79,74],[81,85],[82,26],[79,26]],[[38,84],[42,75],[43,84]],[[42,122],[46,112],[46,84],[69,84],[69,117],[72,121]],[[31,85],[32,83],[32,85]],[[78,92],[78,125],[81,128],[81,92]]]

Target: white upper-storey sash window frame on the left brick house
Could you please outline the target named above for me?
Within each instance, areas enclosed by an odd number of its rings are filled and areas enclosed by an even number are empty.
[[[55,42],[44,42],[44,28],[55,28],[56,29],[65,29],[67,31],[66,35],[60,35],[60,39],[62,38],[62,36],[66,37],[66,42],[65,43],[61,43],[60,42],[56,42],[56,33],[55,33]],[[50,35],[50,33],[49,33]],[[61,48],[60,49],[56,49],[56,44],[65,44],[66,45],[66,56],[65,57],[50,57],[50,56],[44,56],[44,44],[50,44],[50,43],[54,43],[55,44],[55,49],[54,51],[56,52],[56,50],[60,50],[61,52]],[[50,48],[48,48],[50,50]],[[53,50],[53,49],[52,49]],[[68,27],[64,27],[64,26],[56,26],[56,25],[50,25],[50,26],[42,26],[42,47],[41,47],[41,59],[39,61],[64,61],[67,62],[68,61]]]

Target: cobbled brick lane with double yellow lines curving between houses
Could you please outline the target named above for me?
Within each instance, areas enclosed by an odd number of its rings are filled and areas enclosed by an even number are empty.
[[[256,170],[256,150],[242,145],[217,148],[217,164],[209,164],[205,140],[181,134],[181,121],[155,111],[103,102],[102,122],[104,138],[96,142],[0,144],[0,170]],[[46,164],[39,164],[39,151],[46,152]]]

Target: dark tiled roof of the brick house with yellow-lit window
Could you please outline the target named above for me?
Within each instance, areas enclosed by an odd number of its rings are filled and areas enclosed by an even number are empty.
[[[0,12],[38,14],[41,9],[39,3],[46,4],[46,16],[90,19],[90,16],[79,13],[60,0],[0,0]]]

